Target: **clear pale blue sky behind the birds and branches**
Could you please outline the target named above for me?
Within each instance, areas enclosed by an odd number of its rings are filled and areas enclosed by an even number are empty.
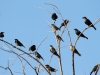
[[[13,45],[15,45],[14,39],[20,40],[26,47],[21,47],[21,49],[26,52],[29,52],[29,47],[33,44],[38,47],[39,44],[47,37],[47,39],[40,45],[38,52],[44,58],[44,63],[49,64],[50,57],[52,55],[52,53],[50,53],[49,46],[53,45],[57,48],[54,33],[50,27],[50,24],[54,23],[51,19],[50,13],[55,12],[58,15],[58,19],[56,21],[56,26],[58,27],[62,23],[62,18],[51,5],[47,5],[45,3],[50,3],[50,0],[0,0],[0,32],[4,32],[5,37],[3,39]],[[53,0],[53,3],[58,7],[63,18],[70,21],[69,31],[73,44],[77,39],[74,28],[82,31],[87,27],[82,19],[83,16],[86,16],[91,20],[91,22],[95,22],[98,18],[100,18],[99,0]],[[50,13],[42,8],[47,9]],[[96,64],[100,63],[100,22],[97,23],[95,27],[97,30],[89,28],[84,32],[84,35],[89,38],[88,40],[80,38],[76,44],[77,50],[82,55],[79,57],[75,54],[76,75],[89,75],[92,68]],[[63,29],[64,27],[61,28],[61,31]],[[58,31],[57,34],[60,35],[61,31]],[[64,40],[64,42],[61,42],[63,74],[71,75],[72,52],[69,49],[70,42],[67,31],[64,32],[62,38]],[[0,42],[0,46],[7,47],[2,42]],[[14,51],[19,52],[16,49],[14,49]],[[28,56],[24,57],[32,64],[33,67],[38,65],[35,60],[29,58]],[[8,60],[11,65],[15,58],[16,55],[0,50],[0,66],[7,67]],[[25,65],[26,63],[23,61],[23,64]],[[53,56],[50,66],[58,70],[56,75],[60,75],[58,58],[56,56]],[[10,68],[12,69],[14,75],[22,75],[20,73],[22,70],[19,59],[16,59],[14,65]],[[25,71],[26,75],[35,74],[28,64],[26,64]],[[2,74],[8,75],[10,73],[9,71],[5,71],[0,68],[0,75]],[[47,73],[41,67],[39,74],[46,75]],[[100,75],[100,71],[98,72],[98,75]]]

